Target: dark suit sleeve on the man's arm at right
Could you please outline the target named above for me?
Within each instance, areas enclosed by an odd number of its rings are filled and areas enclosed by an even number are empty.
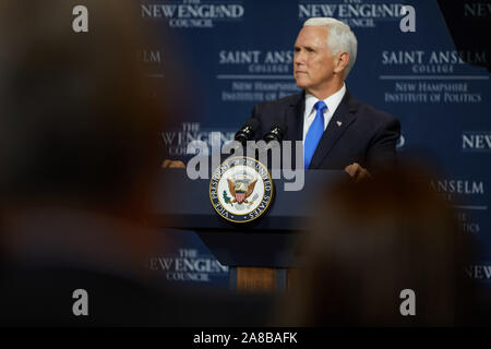
[[[390,117],[379,128],[367,153],[371,172],[394,169],[397,166],[396,143],[400,136],[400,122]]]

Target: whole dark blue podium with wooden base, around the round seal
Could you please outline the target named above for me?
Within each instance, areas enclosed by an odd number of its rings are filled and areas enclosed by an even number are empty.
[[[191,180],[185,169],[161,169],[152,221],[159,228],[194,230],[221,265],[230,288],[239,291],[286,290],[301,265],[297,252],[313,205],[325,188],[348,177],[344,171],[306,170],[301,191],[285,191],[274,180],[270,209],[252,222],[233,224],[218,216],[209,198],[209,179]]]

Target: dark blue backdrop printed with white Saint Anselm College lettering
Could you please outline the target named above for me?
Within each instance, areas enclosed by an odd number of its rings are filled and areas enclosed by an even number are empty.
[[[399,28],[404,4],[416,10],[415,33]],[[467,62],[459,58],[436,1],[154,0],[143,1],[140,11],[156,33],[171,35],[171,41],[144,48],[141,58],[148,79],[171,76],[183,100],[185,120],[177,117],[173,129],[161,132],[172,158],[211,131],[230,139],[255,104],[298,92],[294,43],[308,17],[349,24],[358,57],[347,87],[400,120],[402,155],[418,151],[442,170],[443,178],[431,184],[455,200],[464,229],[483,248],[469,277],[491,281],[490,80],[484,67],[470,64],[490,58],[479,49],[460,52]],[[476,1],[459,2],[456,11],[464,23],[490,20],[489,9]],[[182,249],[213,258],[192,232],[180,239]],[[205,281],[188,281],[227,285],[226,268],[211,273]]]

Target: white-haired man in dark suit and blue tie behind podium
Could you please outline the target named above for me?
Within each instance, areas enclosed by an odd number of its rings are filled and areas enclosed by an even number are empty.
[[[285,122],[284,140],[303,142],[306,169],[345,169],[356,180],[394,166],[398,120],[356,100],[345,86],[356,55],[349,26],[328,17],[306,21],[294,58],[295,80],[303,91],[256,105],[255,137]]]

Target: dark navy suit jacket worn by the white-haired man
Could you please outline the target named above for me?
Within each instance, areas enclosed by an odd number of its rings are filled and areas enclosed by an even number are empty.
[[[288,129],[284,140],[302,141],[304,100],[302,92],[254,106],[252,117],[260,123],[255,140],[261,140],[275,123],[285,121]],[[369,171],[393,167],[399,134],[400,123],[396,118],[352,98],[346,91],[309,168],[343,170],[352,163]]]

